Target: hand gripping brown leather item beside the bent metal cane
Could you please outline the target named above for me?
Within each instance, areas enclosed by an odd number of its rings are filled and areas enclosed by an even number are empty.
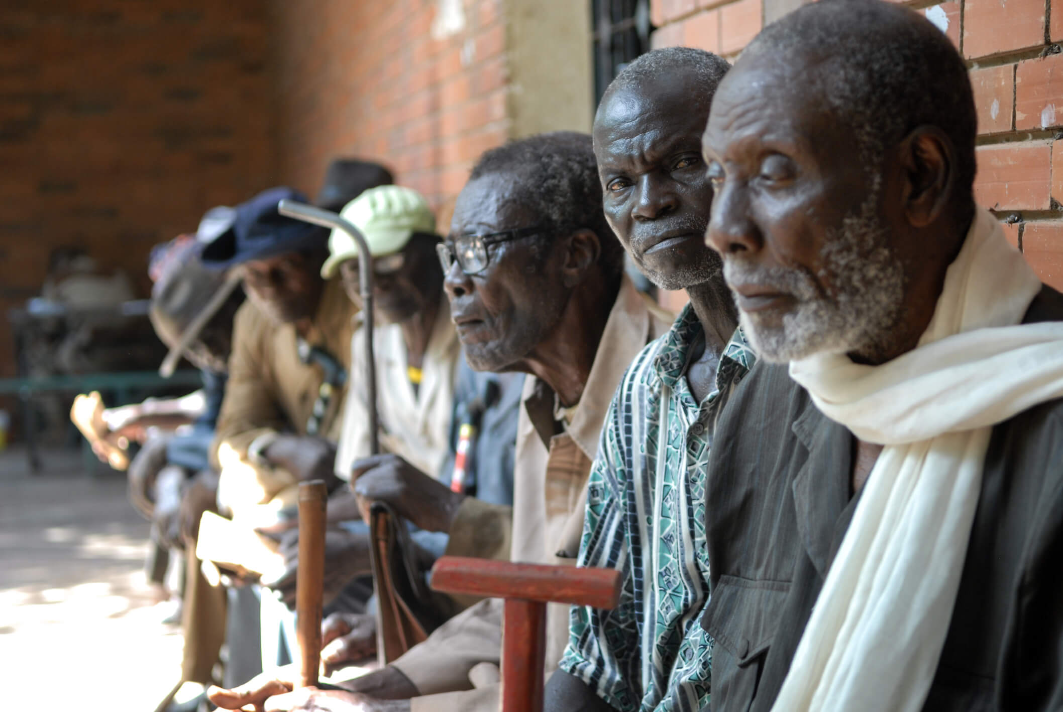
[[[377,454],[355,462],[351,487],[366,521],[369,521],[369,506],[383,501],[395,514],[425,531],[450,532],[466,497],[395,454]]]

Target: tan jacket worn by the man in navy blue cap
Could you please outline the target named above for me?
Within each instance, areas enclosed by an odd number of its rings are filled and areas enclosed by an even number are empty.
[[[339,282],[325,283],[321,303],[314,317],[307,341],[332,354],[351,371],[351,336],[355,328],[355,308]],[[241,497],[247,503],[263,503],[292,483],[283,471],[264,471],[247,463],[248,447],[267,432],[306,433],[306,423],[317,400],[324,372],[318,365],[304,364],[296,344],[296,328],[277,326],[249,299],[236,312],[233,321],[233,353],[229,359],[229,382],[221,403],[212,458],[222,470],[219,501]],[[332,397],[321,421],[321,434],[337,442],[347,388]],[[257,477],[258,482],[246,495],[234,493],[225,482],[225,469],[239,471],[240,479]],[[252,473],[253,470],[253,473]],[[230,480],[234,478],[229,478]]]

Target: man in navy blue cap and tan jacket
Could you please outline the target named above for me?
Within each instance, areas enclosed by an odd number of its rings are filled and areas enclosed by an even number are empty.
[[[350,368],[354,307],[319,275],[328,233],[282,216],[285,198],[305,201],[290,188],[266,191],[203,250],[207,266],[242,276],[249,297],[236,314],[214,445],[219,504],[236,515],[289,503],[301,480],[332,479]]]

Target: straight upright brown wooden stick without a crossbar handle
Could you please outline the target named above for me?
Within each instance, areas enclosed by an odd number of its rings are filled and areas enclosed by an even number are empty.
[[[325,504],[328,487],[321,480],[299,484],[299,572],[296,579],[296,640],[299,686],[318,684],[321,666],[321,609],[325,579]]]

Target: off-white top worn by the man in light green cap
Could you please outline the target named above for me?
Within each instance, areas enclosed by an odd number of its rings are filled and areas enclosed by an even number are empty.
[[[440,294],[439,311],[421,364],[421,384],[415,392],[407,376],[406,343],[402,327],[374,329],[376,408],[381,450],[393,452],[422,473],[437,477],[446,458],[454,410],[454,382],[461,342],[451,321],[450,302]],[[352,353],[366,349],[365,330],[351,342]],[[336,475],[351,479],[351,465],[369,456],[369,399],[362,369],[351,374],[342,433],[336,453]]]

